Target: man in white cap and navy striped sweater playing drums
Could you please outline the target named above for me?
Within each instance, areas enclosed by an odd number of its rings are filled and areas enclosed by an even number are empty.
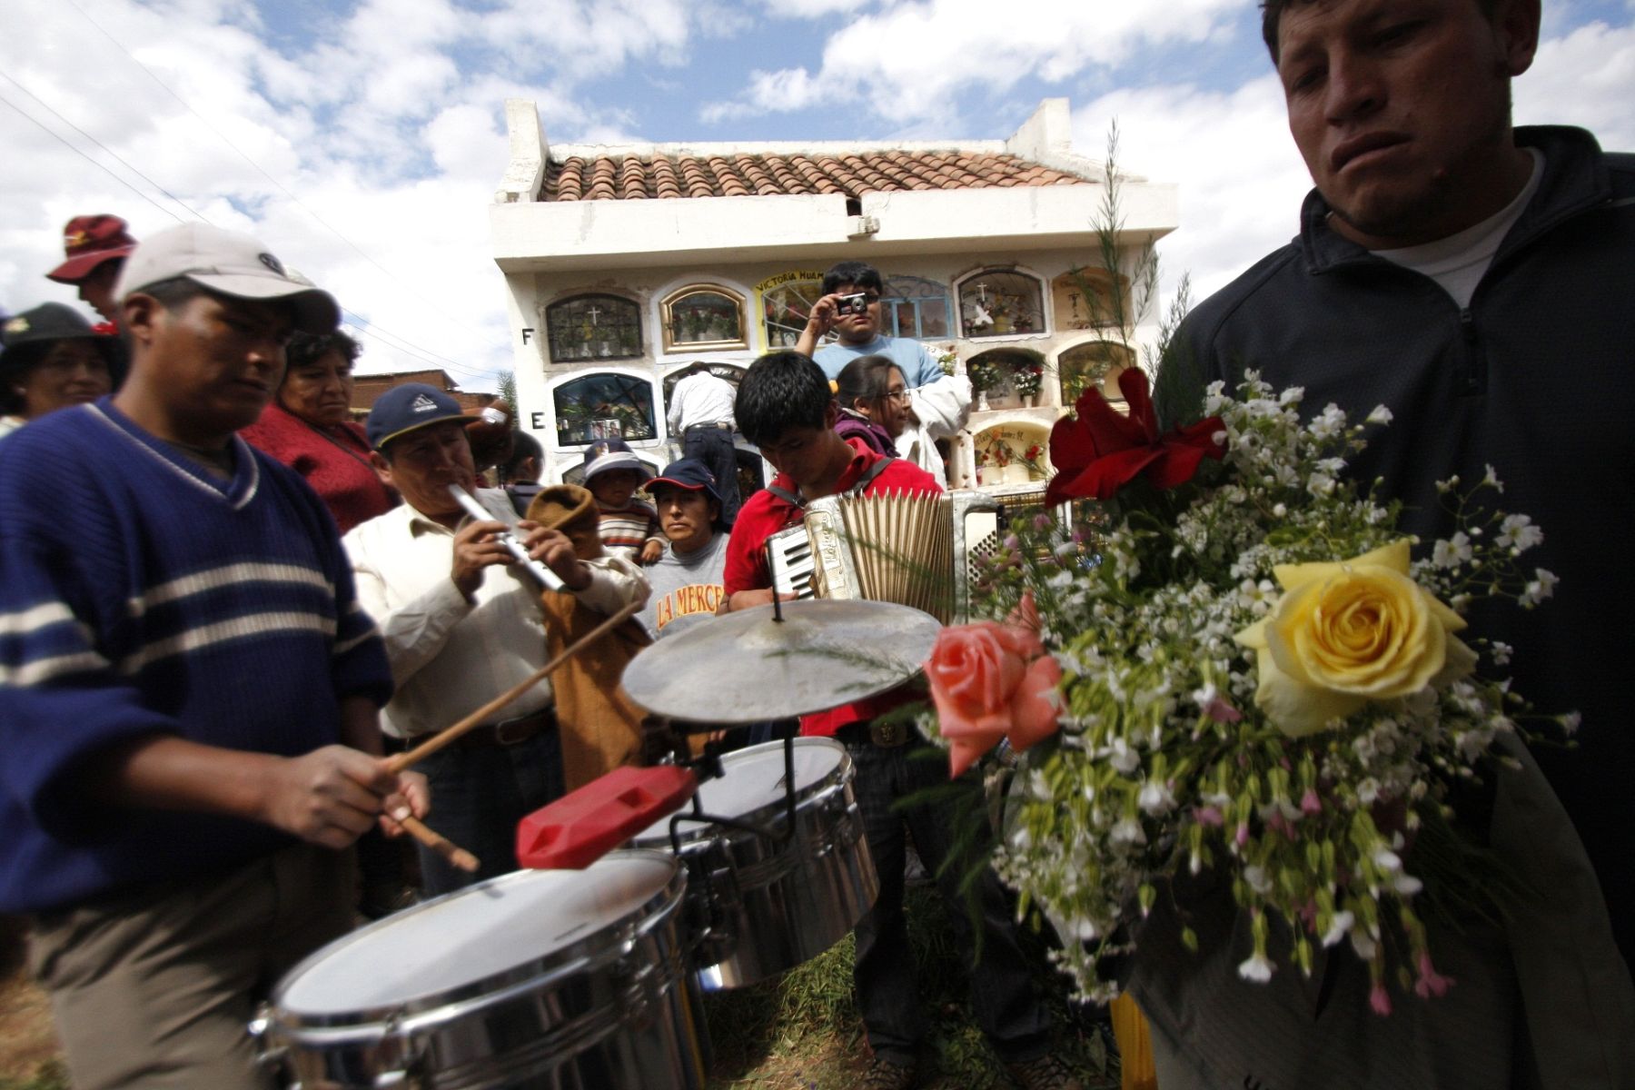
[[[340,850],[425,809],[334,521],[234,435],[338,310],[203,224],[118,296],[126,386],[0,451],[0,910],[80,1090],[268,1087],[255,997],[350,927]]]

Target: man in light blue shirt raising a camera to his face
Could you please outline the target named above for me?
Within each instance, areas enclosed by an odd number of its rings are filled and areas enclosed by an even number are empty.
[[[909,384],[909,420],[901,436],[893,436],[898,451],[947,487],[948,476],[935,441],[953,438],[971,415],[971,381],[963,374],[943,374],[930,346],[912,337],[886,337],[881,332],[885,281],[880,270],[865,261],[840,261],[822,276],[822,297],[813,304],[806,328],[795,351],[818,361],[832,382],[845,364],[858,356],[889,358]],[[819,346],[834,333],[837,340]]]

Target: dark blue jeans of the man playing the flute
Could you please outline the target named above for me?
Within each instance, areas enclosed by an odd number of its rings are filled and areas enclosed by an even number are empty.
[[[556,727],[515,745],[450,745],[415,768],[432,788],[427,825],[477,856],[474,874],[417,845],[427,896],[448,894],[517,869],[517,822],[562,797],[562,748]]]

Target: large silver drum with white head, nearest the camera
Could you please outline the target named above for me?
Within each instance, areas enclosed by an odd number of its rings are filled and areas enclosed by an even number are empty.
[[[252,1026],[301,1090],[701,1090],[669,853],[517,871],[337,940]]]

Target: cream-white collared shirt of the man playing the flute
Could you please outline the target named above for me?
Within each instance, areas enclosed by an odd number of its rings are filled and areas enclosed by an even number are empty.
[[[477,502],[513,525],[505,492],[479,489]],[[540,590],[526,575],[494,565],[468,601],[455,588],[455,531],[407,503],[353,528],[342,544],[358,582],[358,601],[381,629],[397,691],[381,714],[396,737],[453,726],[544,665]],[[597,613],[644,601],[647,580],[629,561],[589,561],[590,585],[574,592]],[[515,719],[551,704],[549,681],[497,711]]]

